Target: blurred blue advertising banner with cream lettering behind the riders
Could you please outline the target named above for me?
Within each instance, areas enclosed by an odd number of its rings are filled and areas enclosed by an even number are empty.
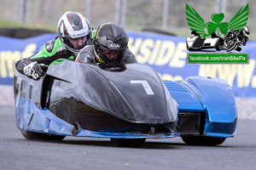
[[[0,85],[12,85],[15,62],[30,57],[56,34],[27,39],[0,37]],[[256,42],[248,41],[240,53],[248,53],[247,64],[189,64],[186,37],[149,32],[128,32],[129,48],[137,61],[154,68],[163,80],[186,77],[220,77],[237,97],[256,97]],[[231,51],[232,52],[232,51]]]

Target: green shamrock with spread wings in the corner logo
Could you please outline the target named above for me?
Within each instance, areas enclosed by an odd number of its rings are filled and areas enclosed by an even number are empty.
[[[249,5],[242,7],[230,22],[222,22],[224,14],[212,14],[211,22],[205,22],[195,11],[195,8],[186,4],[186,19],[191,31],[196,31],[201,37],[210,36],[215,32],[218,36],[226,36],[229,30],[242,30],[247,26]]]

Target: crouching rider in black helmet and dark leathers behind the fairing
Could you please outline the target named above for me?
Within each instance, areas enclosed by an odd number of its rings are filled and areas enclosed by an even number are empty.
[[[122,26],[107,23],[98,26],[93,44],[85,46],[76,61],[82,63],[137,63],[134,54],[127,47],[128,37]]]

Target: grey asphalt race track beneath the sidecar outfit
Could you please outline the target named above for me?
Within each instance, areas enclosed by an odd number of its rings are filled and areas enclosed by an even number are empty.
[[[148,139],[141,148],[109,139],[67,137],[31,141],[15,125],[15,107],[0,105],[0,169],[256,169],[256,121],[238,120],[236,137],[215,147],[176,139]]]

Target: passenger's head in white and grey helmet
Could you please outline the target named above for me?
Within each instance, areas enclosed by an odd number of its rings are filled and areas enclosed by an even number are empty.
[[[64,47],[77,55],[91,37],[90,22],[82,14],[68,11],[58,22],[58,34]]]

